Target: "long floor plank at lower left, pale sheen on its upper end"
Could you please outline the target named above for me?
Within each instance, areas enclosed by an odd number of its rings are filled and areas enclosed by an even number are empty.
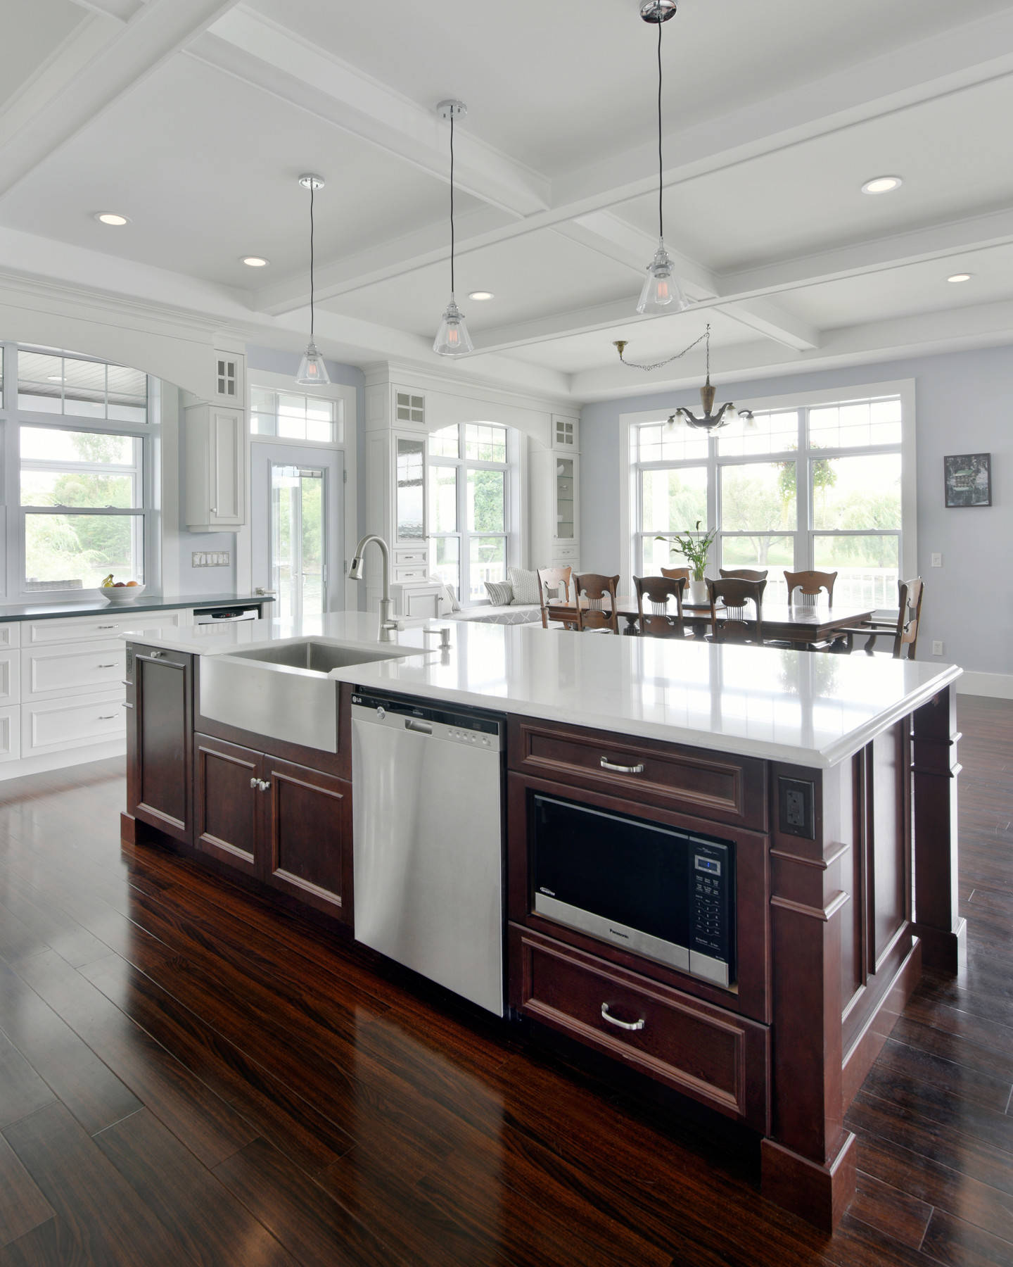
[[[20,968],[28,984],[205,1166],[256,1138],[230,1105],[53,952]]]

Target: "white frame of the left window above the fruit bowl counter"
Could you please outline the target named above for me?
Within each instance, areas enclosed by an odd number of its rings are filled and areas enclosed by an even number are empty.
[[[98,588],[90,589],[27,589],[25,588],[25,516],[27,514],[68,514],[96,516],[110,514],[129,517],[138,522],[143,533],[144,584],[151,589],[161,585],[161,542],[158,498],[156,493],[157,445],[160,441],[158,384],[147,376],[147,421],[122,422],[105,418],[84,417],[72,413],[48,413],[18,407],[18,351],[16,342],[4,342],[4,389],[0,393],[0,424],[3,424],[3,456],[6,471],[6,585],[3,597],[6,602],[44,603],[47,601],[66,602],[66,599],[87,601],[101,597]],[[49,351],[25,345],[25,351]],[[52,350],[54,356],[68,356],[80,361],[95,361],[99,365],[111,365],[99,356],[86,356],[81,352]],[[66,408],[66,404],[65,404]],[[128,436],[141,443],[141,506],[134,508],[106,509],[104,507],[33,507],[22,506],[22,455],[20,428],[44,427],[51,431],[87,431],[105,436]],[[46,469],[43,464],[27,462],[25,468]],[[101,464],[82,462],[81,469],[101,474]]]

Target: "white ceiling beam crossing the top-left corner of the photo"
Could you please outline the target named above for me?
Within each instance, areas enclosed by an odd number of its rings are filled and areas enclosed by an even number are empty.
[[[123,24],[96,16],[0,114],[0,195],[200,34],[236,0],[148,0]]]

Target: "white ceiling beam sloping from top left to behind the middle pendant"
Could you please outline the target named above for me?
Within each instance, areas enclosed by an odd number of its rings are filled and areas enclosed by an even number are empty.
[[[437,117],[436,101],[423,108],[260,14],[225,14],[187,52],[438,180],[450,179],[450,128]],[[512,215],[543,210],[548,181],[479,141],[476,131],[469,119],[455,127],[457,186]]]

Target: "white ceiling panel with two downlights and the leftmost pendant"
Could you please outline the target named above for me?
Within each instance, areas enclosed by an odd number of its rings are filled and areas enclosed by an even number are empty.
[[[318,260],[447,214],[447,185],[267,92],[177,57],[0,200],[0,223],[225,285],[305,270],[309,195]],[[461,195],[462,214],[474,199]],[[94,213],[120,212],[125,228]],[[242,255],[262,255],[252,270]]]

